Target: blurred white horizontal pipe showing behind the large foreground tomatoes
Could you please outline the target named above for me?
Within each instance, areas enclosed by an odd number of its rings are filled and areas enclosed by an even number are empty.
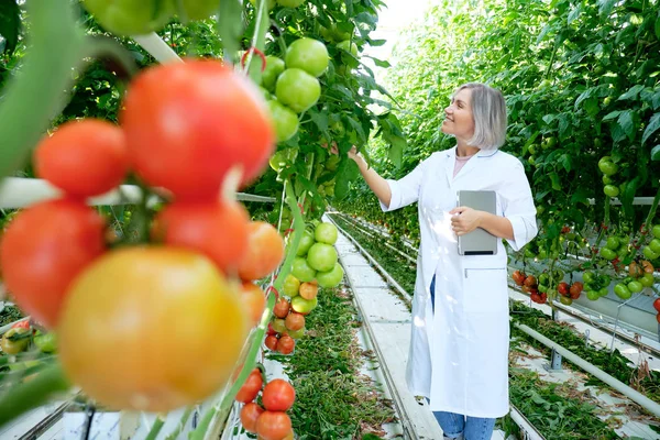
[[[48,200],[62,196],[62,190],[43,179],[33,179],[24,177],[7,177],[0,180],[0,209],[24,208],[37,201]],[[99,197],[92,197],[88,200],[91,206],[114,206],[139,204],[142,198],[142,190],[135,185],[120,185],[108,194]],[[274,202],[274,197],[254,196],[239,193],[237,199],[240,201]],[[147,201],[153,206],[158,201],[153,197]]]

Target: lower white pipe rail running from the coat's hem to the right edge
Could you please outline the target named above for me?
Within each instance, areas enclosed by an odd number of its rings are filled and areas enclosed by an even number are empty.
[[[572,351],[564,349],[563,346],[561,346],[557,342],[552,341],[551,339],[546,338],[538,331],[536,331],[525,324],[517,323],[517,322],[513,322],[513,324],[514,324],[514,327],[516,327],[517,329],[521,330],[522,332],[529,334],[530,337],[532,337],[534,339],[536,339],[543,345],[557,351],[563,358],[571,361],[572,363],[578,365],[580,369],[584,370],[586,373],[593,375],[594,377],[597,377],[598,380],[603,381],[606,385],[609,385],[617,392],[619,392],[623,395],[625,395],[626,397],[630,398],[630,400],[635,402],[636,404],[641,406],[644,409],[646,409],[653,416],[660,417],[660,404],[651,400],[644,394],[639,393],[637,389],[629,387],[628,385],[624,384],[616,377],[610,376],[609,374],[605,373],[603,370],[598,369],[594,364],[580,358]]]

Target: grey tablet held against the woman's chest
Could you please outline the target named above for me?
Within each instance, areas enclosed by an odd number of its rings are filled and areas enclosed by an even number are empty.
[[[495,191],[459,191],[459,206],[480,211],[497,213],[497,196]],[[459,237],[460,255],[495,255],[497,238],[482,228]]]

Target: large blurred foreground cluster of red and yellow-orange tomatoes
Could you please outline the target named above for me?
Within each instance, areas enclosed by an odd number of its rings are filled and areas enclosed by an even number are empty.
[[[143,70],[120,122],[68,122],[37,145],[36,173],[62,197],[14,217],[0,265],[16,304],[56,330],[72,382],[111,408],[165,411],[220,388],[263,314],[252,282],[284,242],[231,195],[275,136],[257,87],[216,61]],[[86,199],[129,174],[167,204],[142,219],[142,243],[110,245]]]

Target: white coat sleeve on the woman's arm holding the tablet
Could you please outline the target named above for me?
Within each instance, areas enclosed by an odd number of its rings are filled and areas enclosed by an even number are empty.
[[[514,228],[514,240],[507,240],[514,251],[519,251],[538,233],[536,207],[522,164],[516,160],[508,172],[501,193],[503,213]]]

